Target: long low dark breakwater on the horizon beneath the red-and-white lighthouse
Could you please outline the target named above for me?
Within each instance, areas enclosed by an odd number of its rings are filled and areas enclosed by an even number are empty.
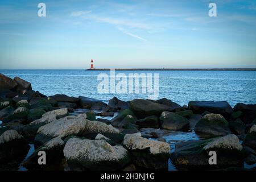
[[[85,71],[110,71],[110,68],[94,68]],[[256,71],[256,68],[115,68],[115,71]]]

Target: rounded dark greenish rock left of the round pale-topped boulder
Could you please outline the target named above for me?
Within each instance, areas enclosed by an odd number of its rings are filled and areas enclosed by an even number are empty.
[[[160,115],[160,122],[163,129],[167,130],[187,130],[189,128],[188,119],[178,114],[163,111]]]

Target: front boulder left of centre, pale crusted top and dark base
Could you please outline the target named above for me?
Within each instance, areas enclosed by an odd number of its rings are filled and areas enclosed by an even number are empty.
[[[63,152],[69,164],[79,164],[91,170],[116,170],[130,163],[129,152],[125,148],[111,146],[105,140],[71,138]]]

